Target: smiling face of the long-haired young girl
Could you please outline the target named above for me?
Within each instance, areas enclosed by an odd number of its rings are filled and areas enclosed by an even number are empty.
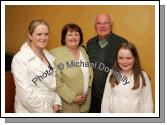
[[[129,49],[121,48],[117,56],[118,65],[123,73],[131,73],[135,64],[135,58]]]

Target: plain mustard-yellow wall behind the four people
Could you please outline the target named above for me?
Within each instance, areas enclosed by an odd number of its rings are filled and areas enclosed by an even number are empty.
[[[41,18],[51,27],[47,49],[61,46],[63,25],[74,22],[80,25],[84,44],[95,35],[94,18],[99,13],[109,13],[113,20],[113,32],[135,43],[143,69],[152,80],[154,96],[155,67],[155,8],[154,6],[11,6],[5,8],[5,51],[16,53],[27,39],[27,27],[31,20]]]

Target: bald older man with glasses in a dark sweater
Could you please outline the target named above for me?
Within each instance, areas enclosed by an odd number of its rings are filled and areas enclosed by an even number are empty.
[[[96,16],[95,30],[97,36],[87,42],[89,59],[94,64],[90,113],[100,113],[107,75],[112,69],[116,50],[123,42],[127,42],[112,32],[112,21],[108,14]]]

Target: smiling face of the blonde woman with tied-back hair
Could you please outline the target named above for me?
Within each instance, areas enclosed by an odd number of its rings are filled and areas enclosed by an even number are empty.
[[[40,24],[35,27],[32,34],[29,34],[31,46],[38,49],[43,49],[48,43],[49,29],[46,25]]]

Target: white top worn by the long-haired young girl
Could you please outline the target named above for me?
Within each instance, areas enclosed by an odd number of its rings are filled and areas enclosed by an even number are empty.
[[[101,112],[103,113],[152,113],[153,102],[151,85],[148,75],[143,72],[146,81],[146,87],[140,87],[136,90],[131,88],[134,85],[133,75],[127,78],[127,83],[121,81],[115,87],[111,87],[108,75],[104,94],[102,98]],[[141,80],[141,78],[140,78]]]

